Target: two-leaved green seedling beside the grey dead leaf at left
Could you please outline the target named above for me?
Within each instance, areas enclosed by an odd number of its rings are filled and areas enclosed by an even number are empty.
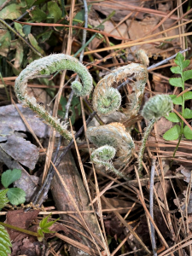
[[[14,206],[20,205],[26,201],[26,193],[23,189],[19,189],[19,188],[8,189],[9,185],[11,183],[14,183],[16,180],[20,179],[20,177],[21,177],[21,171],[19,169],[13,169],[13,171],[8,170],[6,172],[3,172],[2,174],[1,181],[4,188],[6,188],[3,191],[6,191],[10,203]],[[0,208],[2,208],[1,203],[0,203]]]

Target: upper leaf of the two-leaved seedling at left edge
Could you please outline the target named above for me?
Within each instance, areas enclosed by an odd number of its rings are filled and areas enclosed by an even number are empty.
[[[19,169],[14,169],[13,171],[8,170],[2,174],[2,183],[5,188],[8,188],[11,183],[15,180],[20,179],[21,171]]]

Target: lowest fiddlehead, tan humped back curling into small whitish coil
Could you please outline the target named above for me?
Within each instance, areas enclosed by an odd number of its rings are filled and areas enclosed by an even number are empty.
[[[96,147],[102,147],[102,151],[99,151],[101,148],[98,148],[96,152],[94,151],[91,154],[91,159],[94,159],[95,163],[96,158],[94,156],[98,158],[98,152],[104,153],[104,148],[110,146],[114,148],[117,156],[117,159],[113,163],[125,166],[135,149],[131,135],[125,131],[125,126],[120,123],[89,127],[86,131],[86,136]],[[108,148],[106,152],[108,152]],[[104,158],[105,156],[102,157],[101,161],[104,161]],[[97,162],[97,164],[102,165],[102,162]],[[110,165],[112,164],[110,163]],[[113,172],[114,167],[112,167],[113,165],[111,167],[108,165],[108,160],[107,164],[103,164],[103,166],[107,166]],[[115,171],[117,170],[115,169]],[[117,172],[115,174],[117,175]],[[118,175],[122,177],[120,173]]]

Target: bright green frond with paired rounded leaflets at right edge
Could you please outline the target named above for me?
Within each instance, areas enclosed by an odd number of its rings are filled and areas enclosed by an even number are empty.
[[[184,68],[189,67],[190,61],[184,60],[184,57],[181,53],[177,53],[176,59],[174,60],[177,64],[176,67],[171,67],[172,73],[177,73],[181,77],[180,78],[172,78],[169,79],[169,83],[173,86],[181,87],[182,90],[184,90],[184,82],[192,79],[192,70],[183,71]],[[181,96],[171,95],[172,102],[176,105],[182,106],[182,117],[184,119],[191,119],[192,118],[192,110],[189,108],[184,108],[185,101],[192,99],[192,91],[187,91],[183,93]],[[175,156],[177,152],[177,148],[179,146],[179,143],[181,142],[182,136],[184,136],[186,139],[192,139],[192,131],[189,129],[187,125],[184,126],[184,122],[182,119],[180,119],[179,116],[177,116],[176,113],[169,113],[168,116],[166,116],[166,119],[172,121],[173,123],[180,123],[180,125],[174,125],[170,130],[166,131],[164,134],[164,139],[167,141],[177,140],[178,143],[174,150],[173,157]]]

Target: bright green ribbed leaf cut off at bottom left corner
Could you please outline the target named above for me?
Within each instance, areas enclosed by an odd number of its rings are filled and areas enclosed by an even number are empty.
[[[11,253],[10,247],[12,247],[8,231],[0,225],[0,255],[1,256],[8,256]]]

